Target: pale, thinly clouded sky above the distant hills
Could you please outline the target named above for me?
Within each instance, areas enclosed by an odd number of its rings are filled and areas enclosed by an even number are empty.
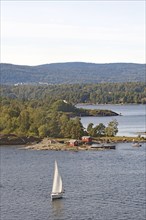
[[[145,0],[1,0],[1,63],[145,63]]]

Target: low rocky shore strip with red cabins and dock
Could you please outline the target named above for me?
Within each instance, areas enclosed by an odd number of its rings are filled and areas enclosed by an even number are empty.
[[[134,140],[143,143],[143,138],[137,137]],[[117,143],[132,143],[133,137],[103,137],[93,138],[83,136],[77,139],[50,139],[44,138],[38,143],[26,145],[23,149],[31,150],[55,150],[55,151],[83,151],[83,150],[115,150]]]

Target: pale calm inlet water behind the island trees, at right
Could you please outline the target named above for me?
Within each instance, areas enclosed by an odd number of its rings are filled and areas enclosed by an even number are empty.
[[[146,105],[77,105],[78,107],[88,109],[110,109],[122,116],[115,117],[82,117],[81,121],[86,128],[89,123],[97,125],[103,123],[107,124],[116,119],[118,125],[118,136],[138,136],[137,132],[146,131]]]

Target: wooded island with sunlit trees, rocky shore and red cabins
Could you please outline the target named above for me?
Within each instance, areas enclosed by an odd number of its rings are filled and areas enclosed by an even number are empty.
[[[81,117],[118,116],[106,109],[83,109],[66,100],[13,100],[3,99],[1,108],[0,145],[24,145],[36,150],[95,150],[117,142],[132,142],[133,138],[116,137],[118,122],[107,126],[89,123],[85,129]],[[83,136],[92,142],[82,141]],[[140,135],[139,135],[140,136]],[[144,141],[137,137],[137,141]],[[77,143],[77,144],[75,144]]]

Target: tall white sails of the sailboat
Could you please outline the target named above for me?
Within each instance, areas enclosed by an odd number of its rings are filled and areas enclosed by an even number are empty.
[[[55,161],[55,170],[54,170],[54,179],[53,179],[53,187],[52,194],[61,193],[62,192],[62,179],[58,171],[58,165]]]

